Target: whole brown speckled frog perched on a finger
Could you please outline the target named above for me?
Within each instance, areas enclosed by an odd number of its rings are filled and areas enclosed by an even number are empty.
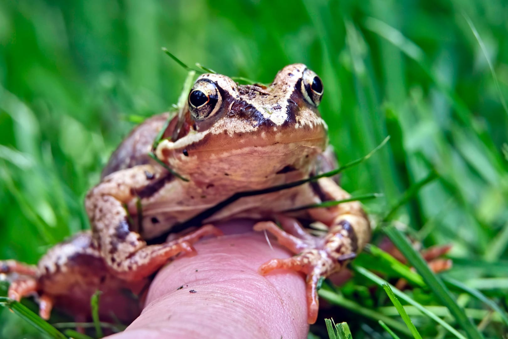
[[[308,322],[315,322],[320,278],[344,267],[370,237],[357,201],[291,211],[349,198],[332,179],[242,197],[193,225],[200,228],[172,240],[155,239],[235,193],[308,178],[328,168],[330,159],[323,156],[327,125],[317,110],[323,89],[321,79],[302,64],[284,67],[268,87],[201,75],[181,114],[169,124],[168,114],[146,120],[115,151],[101,183],[86,196],[90,233],[55,246],[38,267],[4,263],[4,272],[20,274],[9,295],[19,299],[38,292],[45,318],[53,303],[68,309],[69,304],[88,305],[96,289],[105,291],[109,302],[122,299],[118,290],[139,292],[168,260],[194,252],[193,243],[203,236],[220,235],[214,223],[249,218],[258,221],[255,230],[272,233],[296,254],[270,260],[259,271],[283,268],[305,274]],[[162,138],[154,143],[160,132]],[[148,156],[152,151],[159,162]],[[316,222],[326,225],[323,236],[310,235],[301,226]],[[88,271],[88,281],[73,278],[82,275],[80,270]]]

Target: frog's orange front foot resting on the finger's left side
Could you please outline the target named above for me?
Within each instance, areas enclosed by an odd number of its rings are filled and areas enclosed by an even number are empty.
[[[126,281],[137,281],[155,272],[177,255],[195,255],[193,244],[210,235],[219,236],[223,232],[213,225],[205,225],[173,241],[144,245],[135,252],[117,251],[106,260],[116,276]]]

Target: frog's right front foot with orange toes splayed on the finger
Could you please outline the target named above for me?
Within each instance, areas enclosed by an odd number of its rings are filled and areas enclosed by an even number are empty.
[[[283,223],[283,225],[284,229],[287,229],[289,224]],[[309,324],[315,323],[319,310],[317,287],[320,279],[339,271],[348,260],[356,257],[356,240],[351,225],[346,220],[342,220],[326,237],[299,235],[305,231],[294,225],[288,229],[293,233],[290,234],[273,222],[257,223],[254,230],[266,230],[272,233],[281,245],[298,254],[287,259],[272,259],[261,265],[259,272],[267,274],[276,269],[289,269],[304,273],[306,275],[307,321]]]

